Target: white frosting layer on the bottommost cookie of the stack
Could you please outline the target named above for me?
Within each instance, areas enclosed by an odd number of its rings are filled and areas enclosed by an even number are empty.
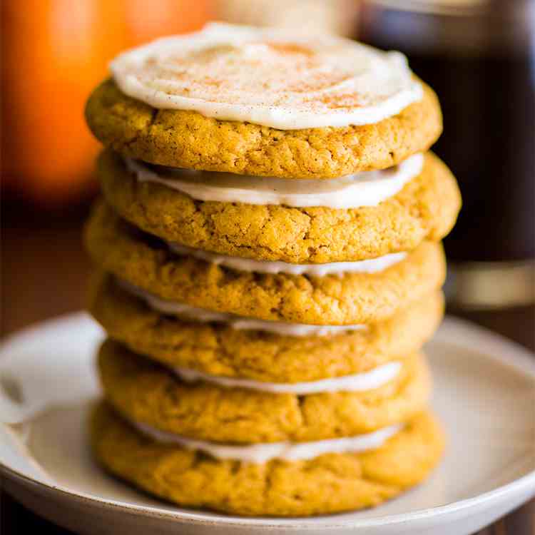
[[[146,424],[132,422],[143,434],[170,444],[178,444],[186,449],[198,449],[216,459],[235,459],[243,462],[262,464],[272,459],[285,461],[301,461],[313,459],[327,453],[357,453],[377,449],[394,434],[399,433],[401,424],[383,427],[367,434],[341,439],[318,440],[315,442],[272,442],[265,444],[252,444],[248,446],[228,446],[217,442],[193,440],[180,437],[176,434],[154,429]]]

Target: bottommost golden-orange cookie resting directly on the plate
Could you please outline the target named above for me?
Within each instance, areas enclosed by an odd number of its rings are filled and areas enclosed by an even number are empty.
[[[91,442],[108,472],[186,507],[247,516],[307,516],[377,506],[425,479],[444,436],[422,412],[378,449],[253,464],[157,442],[98,404]]]

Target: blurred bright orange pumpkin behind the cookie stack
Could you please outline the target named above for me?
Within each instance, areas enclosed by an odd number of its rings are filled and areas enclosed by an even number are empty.
[[[98,144],[83,122],[91,89],[118,51],[197,29],[208,0],[4,0],[3,185],[58,203],[91,183]]]

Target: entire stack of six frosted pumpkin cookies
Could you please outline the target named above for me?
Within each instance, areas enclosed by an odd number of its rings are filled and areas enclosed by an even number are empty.
[[[443,450],[420,348],[459,191],[401,54],[210,24],[111,63],[86,228],[108,333],[92,445],[176,504],[375,506]]]

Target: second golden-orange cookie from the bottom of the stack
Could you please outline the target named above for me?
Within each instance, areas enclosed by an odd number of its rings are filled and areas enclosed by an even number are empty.
[[[397,377],[365,392],[273,394],[183,382],[107,340],[98,370],[108,402],[133,422],[214,442],[303,442],[371,432],[424,408],[431,377],[424,358],[405,357]]]

